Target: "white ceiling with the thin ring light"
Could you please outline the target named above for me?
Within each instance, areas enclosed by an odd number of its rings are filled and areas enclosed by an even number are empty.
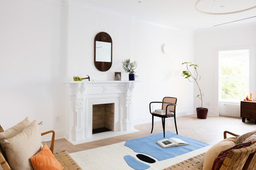
[[[79,0],[78,0],[79,1]],[[83,1],[83,0],[80,0]],[[195,9],[196,0],[85,0],[87,5],[168,27],[200,29],[256,16],[256,8],[236,14],[211,15]],[[85,2],[83,1],[83,3]],[[140,2],[140,3],[139,3]],[[224,7],[222,7],[224,6]],[[200,10],[231,12],[256,6],[256,0],[201,0]],[[234,24],[256,22],[256,17]],[[229,24],[230,25],[230,24]]]

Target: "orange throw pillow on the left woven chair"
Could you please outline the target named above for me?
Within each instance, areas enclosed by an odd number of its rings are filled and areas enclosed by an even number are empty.
[[[48,148],[47,144],[43,145],[40,152],[30,158],[33,169],[35,170],[59,170],[64,169],[62,165],[56,160],[51,150]]]

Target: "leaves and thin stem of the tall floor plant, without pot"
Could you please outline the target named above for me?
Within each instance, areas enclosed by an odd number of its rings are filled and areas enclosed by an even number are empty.
[[[200,94],[196,95],[196,97],[198,97],[201,100],[201,108],[203,108],[203,92],[198,84],[198,81],[201,79],[201,76],[198,76],[198,70],[197,70],[199,66],[191,62],[182,63],[182,65],[184,64],[186,65],[186,70],[182,71],[182,76],[188,79],[188,81],[190,82],[193,82],[193,80],[194,82],[196,82],[196,85],[198,86],[198,89],[200,92]],[[192,71],[190,70],[191,68],[194,69],[194,73],[192,73]]]

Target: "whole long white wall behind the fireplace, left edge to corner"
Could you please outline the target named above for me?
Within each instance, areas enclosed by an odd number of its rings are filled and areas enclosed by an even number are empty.
[[[7,129],[29,116],[43,121],[41,131],[64,134],[64,81],[74,75],[128,79],[121,61],[138,61],[133,122],[150,122],[150,101],[178,98],[178,115],[193,113],[193,84],[181,77],[183,61],[194,59],[191,31],[161,27],[120,16],[98,5],[64,7],[51,1],[0,0],[0,124]],[[113,64],[100,72],[93,63],[96,33],[113,40]],[[161,45],[169,44],[163,54]],[[58,119],[58,120],[57,120]],[[179,122],[178,122],[179,126]]]

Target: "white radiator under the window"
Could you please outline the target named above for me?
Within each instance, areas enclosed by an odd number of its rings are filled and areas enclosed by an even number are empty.
[[[240,103],[219,103],[219,116],[240,118]]]

